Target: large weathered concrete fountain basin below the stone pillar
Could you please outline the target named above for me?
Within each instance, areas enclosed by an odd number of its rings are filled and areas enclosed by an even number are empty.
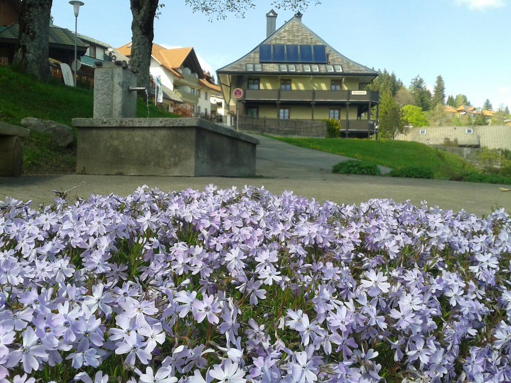
[[[259,141],[200,118],[75,118],[73,126],[78,173],[255,175]]]

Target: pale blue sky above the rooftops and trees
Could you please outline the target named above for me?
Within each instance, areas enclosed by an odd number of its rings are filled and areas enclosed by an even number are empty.
[[[80,33],[118,47],[131,39],[128,0],[84,0]],[[213,20],[193,13],[184,0],[160,0],[154,42],[193,46],[205,69],[216,70],[249,52],[266,33],[270,0],[244,19]],[[276,10],[277,28],[293,12]],[[74,30],[72,6],[54,0],[55,24]],[[437,75],[447,94],[467,94],[482,106],[511,108],[511,0],[322,0],[304,11],[303,22],[346,57],[375,69],[394,71],[409,85],[421,75],[433,86]]]

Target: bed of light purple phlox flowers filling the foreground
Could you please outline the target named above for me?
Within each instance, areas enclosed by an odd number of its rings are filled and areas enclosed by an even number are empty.
[[[511,380],[510,228],[254,187],[7,199],[0,383]]]

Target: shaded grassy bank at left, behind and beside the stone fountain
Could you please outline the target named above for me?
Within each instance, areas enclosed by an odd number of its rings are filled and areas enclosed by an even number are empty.
[[[71,126],[75,117],[92,117],[92,91],[72,88],[60,82],[42,84],[0,67],[0,122],[21,125],[25,117],[52,119]],[[146,104],[138,99],[137,117],[147,117]],[[150,105],[150,117],[175,117]],[[48,135],[32,132],[23,139],[25,174],[74,173],[76,145],[62,149]]]

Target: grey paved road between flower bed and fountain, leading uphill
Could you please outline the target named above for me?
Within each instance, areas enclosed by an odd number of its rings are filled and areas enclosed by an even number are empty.
[[[267,137],[258,138],[261,139],[258,148],[258,176],[254,178],[23,176],[17,179],[0,178],[0,200],[10,196],[24,201],[32,200],[36,204],[48,204],[55,197],[52,190],[66,190],[81,181],[86,184],[73,190],[71,196],[88,197],[90,194],[110,193],[127,195],[143,184],[170,191],[188,187],[202,189],[213,183],[223,188],[233,185],[264,185],[273,193],[293,190],[295,194],[315,198],[317,201],[338,203],[360,203],[371,198],[391,198],[396,201],[410,199],[415,204],[427,201],[430,206],[438,205],[454,211],[465,209],[479,216],[497,207],[511,210],[511,192],[500,192],[499,185],[331,174],[332,164],[339,162],[335,155],[288,146]],[[325,161],[336,162],[323,166],[323,154]]]

